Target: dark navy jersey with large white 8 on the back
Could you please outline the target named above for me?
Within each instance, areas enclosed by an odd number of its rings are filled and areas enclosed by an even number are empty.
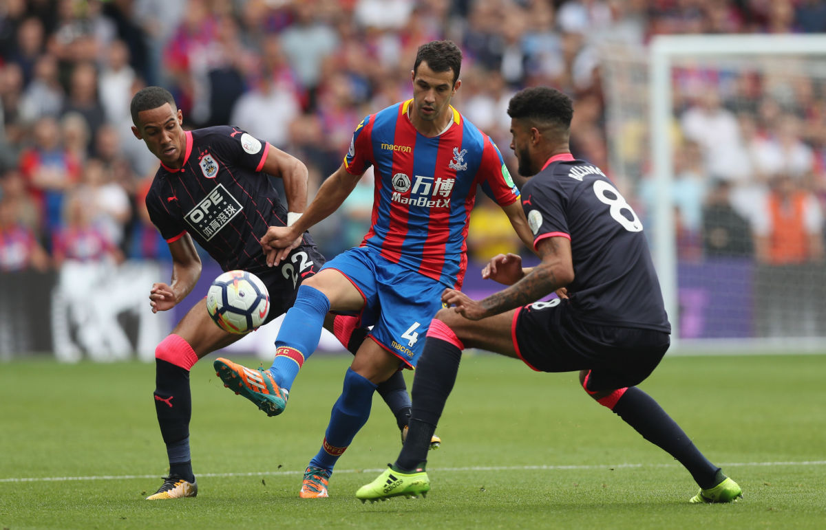
[[[571,240],[573,314],[592,324],[671,332],[643,225],[600,168],[570,154],[548,160],[522,188],[540,239]]]

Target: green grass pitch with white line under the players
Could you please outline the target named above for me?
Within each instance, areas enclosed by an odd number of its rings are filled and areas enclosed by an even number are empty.
[[[166,472],[154,365],[0,364],[0,528],[826,524],[826,356],[667,357],[641,386],[743,486],[745,499],[731,505],[687,504],[691,476],[590,400],[576,374],[539,374],[490,354],[463,360],[427,499],[354,497],[398,453],[379,398],[339,460],[331,498],[298,499],[349,358],[307,362],[287,412],[273,419],[224,389],[211,360],[192,369],[200,495],[158,502],[144,500]]]

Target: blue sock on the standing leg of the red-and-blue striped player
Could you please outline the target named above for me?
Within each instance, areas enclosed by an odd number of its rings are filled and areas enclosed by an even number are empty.
[[[367,423],[375,390],[376,385],[370,380],[359,376],[351,368],[347,369],[344,374],[344,390],[333,405],[324,443],[318,454],[310,461],[311,466],[333,472],[335,462],[350,442],[353,442],[358,430]]]

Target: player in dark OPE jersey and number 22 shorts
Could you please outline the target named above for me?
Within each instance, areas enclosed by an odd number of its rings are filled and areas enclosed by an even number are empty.
[[[305,165],[235,127],[183,130],[182,113],[164,88],[137,92],[131,115],[133,134],[161,163],[146,207],[173,258],[172,282],[151,288],[152,311],[172,309],[195,286],[201,259],[194,240],[223,270],[244,269],[261,278],[272,304],[266,322],[284,313],[298,286],[319,271],[325,258],[310,234],[301,231],[282,265],[268,267],[259,237],[270,226],[289,225],[304,210]],[[267,175],[282,178],[288,211]],[[325,327],[353,353],[366,335],[353,316],[328,315]],[[189,370],[201,357],[240,337],[213,324],[206,304],[199,301],[156,348],[154,403],[169,456],[169,477],[148,499],[197,495],[189,451]],[[405,427],[410,397],[401,373],[382,383],[379,393],[396,415],[399,428]]]

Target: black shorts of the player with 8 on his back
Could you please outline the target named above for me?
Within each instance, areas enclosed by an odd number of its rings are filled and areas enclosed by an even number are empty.
[[[567,300],[525,305],[513,323],[514,347],[536,371],[591,370],[587,390],[634,386],[648,377],[671,343],[656,329],[582,322]]]

